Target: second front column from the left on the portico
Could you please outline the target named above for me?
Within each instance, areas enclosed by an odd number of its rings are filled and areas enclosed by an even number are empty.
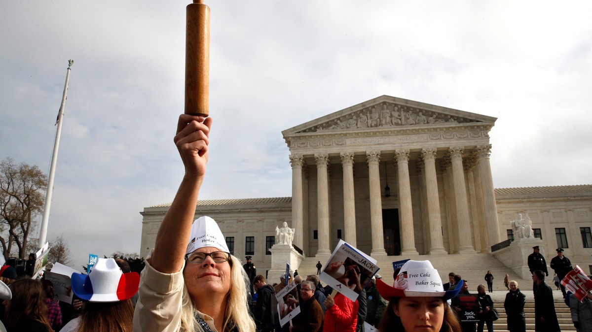
[[[318,250],[317,255],[330,255],[329,250],[329,181],[327,180],[328,154],[315,154],[317,161],[317,211]]]

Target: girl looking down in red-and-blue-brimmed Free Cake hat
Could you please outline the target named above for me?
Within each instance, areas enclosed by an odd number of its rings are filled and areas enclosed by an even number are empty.
[[[430,261],[408,261],[393,286],[377,280],[380,295],[389,300],[378,326],[380,332],[460,332],[461,326],[446,300],[461,287],[444,291]]]

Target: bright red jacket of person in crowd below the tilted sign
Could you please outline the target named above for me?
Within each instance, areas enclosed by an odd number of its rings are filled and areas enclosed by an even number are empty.
[[[323,332],[356,332],[358,300],[354,302],[339,293],[334,300],[329,295],[324,304],[327,311],[323,323]]]

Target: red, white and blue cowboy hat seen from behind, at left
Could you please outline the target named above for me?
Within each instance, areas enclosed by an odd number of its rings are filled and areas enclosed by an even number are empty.
[[[137,272],[123,273],[113,258],[99,258],[88,275],[72,274],[72,291],[90,302],[117,302],[136,294]]]

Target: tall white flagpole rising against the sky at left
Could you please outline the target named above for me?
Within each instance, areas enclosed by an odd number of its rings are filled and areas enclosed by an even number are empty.
[[[62,105],[57,113],[56,141],[53,144],[52,163],[49,168],[49,178],[47,180],[47,191],[45,194],[45,206],[43,207],[43,219],[41,220],[41,230],[39,232],[39,242],[37,247],[42,248],[47,237],[47,222],[49,222],[49,209],[52,206],[53,178],[56,174],[57,150],[60,148],[60,135],[62,134],[62,123],[64,123],[64,108],[66,107],[66,93],[68,92],[68,81],[70,80],[70,67],[74,60],[68,60],[68,69],[66,71],[66,84],[62,95]]]

